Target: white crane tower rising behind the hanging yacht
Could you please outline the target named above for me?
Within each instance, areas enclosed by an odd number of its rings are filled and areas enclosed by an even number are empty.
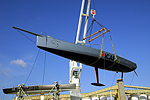
[[[91,0],[87,0],[87,8],[85,8],[85,0],[82,0],[82,5],[81,5],[81,10],[80,10],[80,17],[79,17],[79,22],[78,22],[78,29],[77,29],[77,34],[76,34],[76,41],[75,44],[81,43],[82,45],[85,45],[85,40],[80,41],[79,36],[81,34],[81,23],[82,20],[85,20],[84,24],[84,34],[83,38],[86,37],[87,33],[87,25],[88,25],[88,17],[89,17],[89,9],[90,9],[90,2]],[[84,9],[86,9],[86,14],[83,13]],[[85,19],[82,19],[83,16],[85,16]],[[80,76],[81,76],[81,70],[82,70],[82,63],[77,64],[76,61],[70,60],[70,84],[76,84],[76,89],[70,91],[70,98],[71,100],[80,100],[82,98],[81,96],[81,88],[80,88]]]

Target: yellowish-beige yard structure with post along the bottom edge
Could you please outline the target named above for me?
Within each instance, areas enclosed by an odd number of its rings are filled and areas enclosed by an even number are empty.
[[[150,100],[150,87],[123,85],[122,80],[117,80],[115,86],[90,93],[81,93],[81,95],[82,100]],[[53,100],[53,96],[50,94],[30,95],[24,100]],[[71,100],[70,94],[61,94],[60,100]]]

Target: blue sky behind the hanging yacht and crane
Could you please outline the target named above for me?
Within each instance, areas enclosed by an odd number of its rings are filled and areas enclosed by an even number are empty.
[[[149,0],[94,0],[95,18],[111,30],[117,55],[137,63],[136,72],[124,74],[125,85],[150,87],[150,1]],[[2,88],[24,83],[34,64],[39,49],[12,26],[74,43],[81,0],[0,0],[0,99],[12,99]],[[91,8],[94,8],[93,0]],[[92,16],[89,17],[89,25]],[[93,32],[100,30],[97,24]],[[36,37],[26,34],[36,42]],[[101,43],[101,38],[92,43]],[[99,46],[95,46],[99,48]],[[105,34],[104,51],[113,53],[109,34]],[[40,50],[26,85],[41,85],[45,51]],[[99,69],[100,81],[106,86],[94,87],[94,68],[83,65],[81,92],[91,92],[116,84],[120,73]],[[69,83],[69,60],[46,52],[44,84]]]

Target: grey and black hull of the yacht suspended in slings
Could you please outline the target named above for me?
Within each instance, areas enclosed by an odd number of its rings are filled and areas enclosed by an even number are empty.
[[[117,60],[114,62],[114,55],[103,51],[103,56],[99,59],[100,50],[98,49],[54,39],[52,37],[37,36],[37,47],[85,65],[96,66],[100,69],[130,72],[137,68],[135,63],[122,57],[117,56]],[[110,56],[112,59],[110,59]]]

